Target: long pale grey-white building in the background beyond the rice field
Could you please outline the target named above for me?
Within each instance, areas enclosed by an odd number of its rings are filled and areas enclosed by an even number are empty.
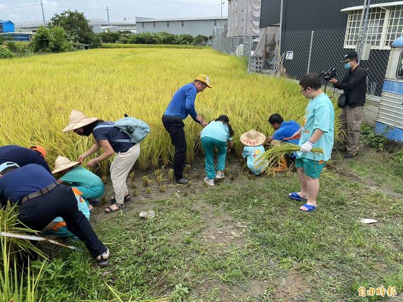
[[[169,18],[148,19],[136,17],[137,32],[167,32],[174,35],[190,34],[192,36],[211,36],[215,27],[224,27],[228,18],[199,17],[199,18]]]

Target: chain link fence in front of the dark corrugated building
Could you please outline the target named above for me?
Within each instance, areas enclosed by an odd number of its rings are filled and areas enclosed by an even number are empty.
[[[275,33],[266,34],[259,46],[257,36],[226,37],[221,34],[213,37],[212,47],[227,54],[247,56],[248,71],[252,73],[298,80],[307,73],[320,74],[335,68],[337,78],[342,80],[347,70],[340,61],[348,50],[354,50],[344,48],[345,35],[346,31],[340,29],[285,31],[282,33],[280,51],[279,35]],[[363,43],[366,42],[364,39]],[[389,52],[371,49],[369,58],[361,61],[361,66],[368,72],[367,93],[370,95],[381,95]]]

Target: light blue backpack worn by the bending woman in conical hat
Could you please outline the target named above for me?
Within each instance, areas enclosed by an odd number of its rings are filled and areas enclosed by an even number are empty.
[[[125,133],[129,139],[120,139],[113,140],[118,143],[140,143],[142,140],[146,138],[146,136],[150,133],[150,126],[147,125],[146,122],[143,122],[141,119],[137,119],[127,114],[124,114],[125,117],[116,120],[114,123],[110,122],[109,125],[99,125],[96,126],[93,130],[98,128],[106,128],[106,127],[116,127],[123,133]]]

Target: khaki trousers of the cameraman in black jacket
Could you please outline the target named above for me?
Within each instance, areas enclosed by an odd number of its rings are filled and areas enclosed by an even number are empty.
[[[343,132],[338,139],[338,148],[347,150],[351,154],[357,154],[358,141],[360,140],[362,112],[364,106],[351,108],[346,106],[339,115]]]

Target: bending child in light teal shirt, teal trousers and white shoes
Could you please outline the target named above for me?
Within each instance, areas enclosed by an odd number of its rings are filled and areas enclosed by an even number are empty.
[[[205,167],[207,176],[204,181],[209,186],[214,186],[214,179],[225,177],[225,159],[227,152],[231,150],[234,131],[229,124],[227,115],[220,115],[212,120],[200,133],[201,147],[205,153]],[[227,145],[228,142],[228,145]],[[214,168],[214,148],[217,148],[217,173]]]

